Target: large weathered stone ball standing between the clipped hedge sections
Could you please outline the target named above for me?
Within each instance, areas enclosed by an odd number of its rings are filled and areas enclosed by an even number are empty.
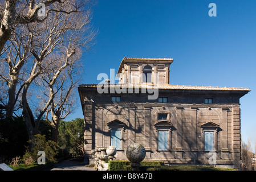
[[[130,144],[126,150],[127,159],[132,163],[140,163],[146,156],[146,150],[142,144]]]

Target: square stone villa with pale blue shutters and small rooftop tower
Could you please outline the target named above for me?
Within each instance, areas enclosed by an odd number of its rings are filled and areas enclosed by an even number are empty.
[[[119,84],[79,85],[87,163],[108,146],[127,160],[129,144],[140,143],[145,160],[241,168],[239,98],[250,89],[171,85],[172,63],[125,57]]]

